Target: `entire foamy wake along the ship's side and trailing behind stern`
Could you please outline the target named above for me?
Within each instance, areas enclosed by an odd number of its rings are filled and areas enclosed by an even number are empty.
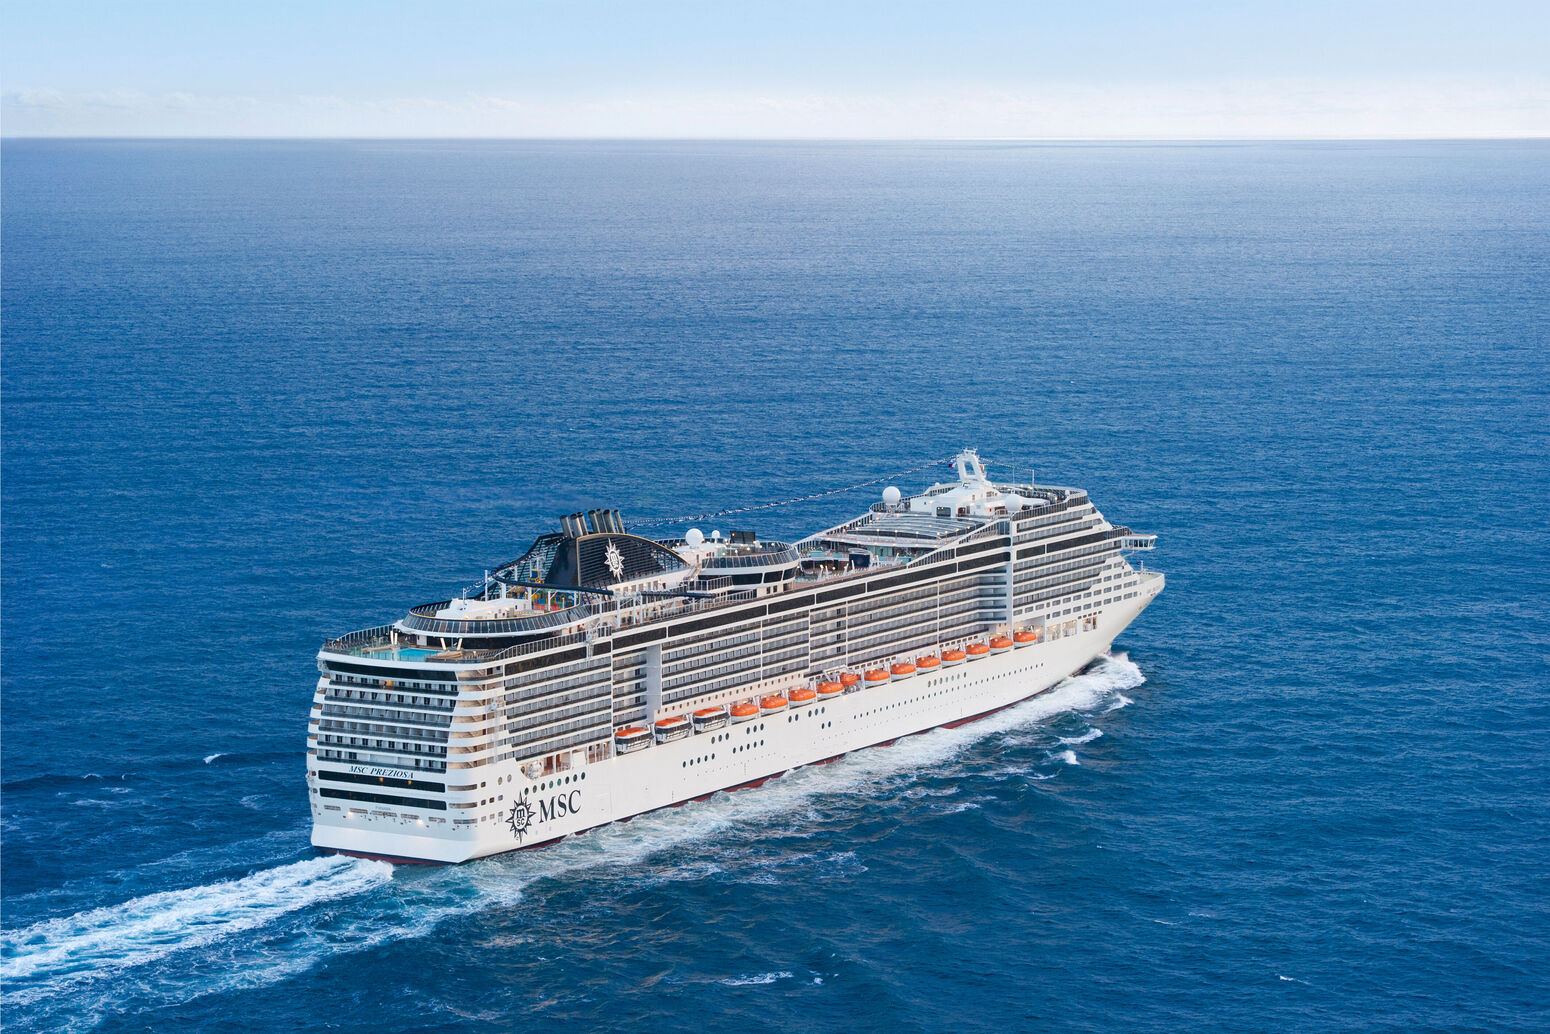
[[[1124,690],[1142,682],[1141,670],[1125,656],[1102,657],[1049,693],[970,726],[907,736],[888,749],[800,769],[760,791],[718,794],[542,851],[434,870],[310,857],[6,930],[0,935],[0,1005],[14,1029],[79,1031],[122,1011],[273,984],[341,953],[425,936],[459,915],[516,905],[524,888],[541,879],[634,867],[728,831],[758,832],[783,817],[800,817],[826,794],[854,794],[939,767],[987,736],[1071,712],[1107,715],[1130,702]],[[1096,738],[1059,743],[1065,747]],[[1074,761],[1066,753],[1056,760]],[[1029,772],[1028,781],[1046,778],[1048,772]]]

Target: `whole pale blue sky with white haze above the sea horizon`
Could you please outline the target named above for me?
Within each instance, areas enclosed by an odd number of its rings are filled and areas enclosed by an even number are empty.
[[[5,0],[0,135],[1550,136],[1550,0]]]

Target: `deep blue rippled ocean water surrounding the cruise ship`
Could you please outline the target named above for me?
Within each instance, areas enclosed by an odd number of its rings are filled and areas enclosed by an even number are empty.
[[[0,161],[8,1029],[1550,1028],[1550,144]],[[547,851],[308,850],[326,636],[961,445],[1158,533],[1114,657]]]

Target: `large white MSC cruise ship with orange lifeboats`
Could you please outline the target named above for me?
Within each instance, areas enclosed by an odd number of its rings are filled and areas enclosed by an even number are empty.
[[[457,598],[324,643],[312,842],[391,862],[535,848],[961,726],[1105,653],[1155,536],[973,451],[797,543],[572,513]]]

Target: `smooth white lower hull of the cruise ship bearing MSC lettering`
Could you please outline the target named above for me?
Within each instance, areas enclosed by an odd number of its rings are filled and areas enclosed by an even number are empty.
[[[462,808],[454,805],[457,811],[436,825],[384,808],[319,812],[312,842],[329,851],[388,860],[467,862],[542,846],[718,791],[755,788],[795,767],[973,721],[1037,696],[1104,654],[1162,584],[1159,574],[1142,575],[1141,591],[1097,611],[1090,631],[966,660],[933,674],[859,688],[541,778],[530,778],[515,763],[491,764],[480,770],[477,789],[457,795],[465,801]],[[804,682],[795,677],[790,687]]]

